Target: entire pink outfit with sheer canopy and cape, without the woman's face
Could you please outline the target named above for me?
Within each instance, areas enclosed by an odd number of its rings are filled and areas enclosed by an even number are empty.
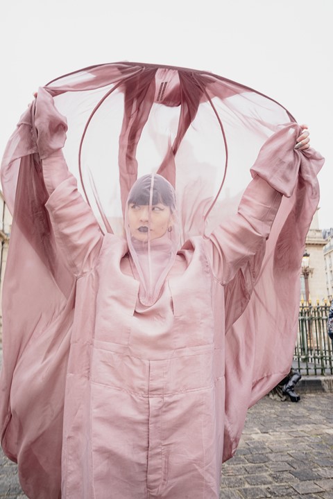
[[[2,446],[29,497],[218,497],[246,410],[291,365],[323,164],[293,149],[299,132],[271,98],[207,71],[121,62],[39,89],[1,168],[14,216]],[[128,196],[155,174],[178,221],[138,244]],[[160,273],[146,259],[158,247]]]

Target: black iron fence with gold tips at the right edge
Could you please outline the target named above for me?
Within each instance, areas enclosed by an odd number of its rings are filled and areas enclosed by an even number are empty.
[[[300,305],[293,367],[302,375],[333,374],[332,340],[327,335],[329,310],[329,303],[324,305],[302,303]]]

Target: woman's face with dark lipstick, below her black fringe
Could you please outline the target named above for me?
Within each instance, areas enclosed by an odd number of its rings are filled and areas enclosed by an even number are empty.
[[[150,219],[150,220],[149,220]],[[148,229],[149,220],[149,229]],[[165,204],[139,205],[134,202],[128,204],[128,225],[130,235],[140,241],[150,240],[164,236],[169,227],[172,227],[171,209]]]

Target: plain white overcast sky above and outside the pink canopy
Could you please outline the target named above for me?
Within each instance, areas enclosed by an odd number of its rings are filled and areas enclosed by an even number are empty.
[[[278,100],[326,158],[319,225],[333,226],[332,0],[1,0],[0,154],[33,91],[93,64],[207,69]]]

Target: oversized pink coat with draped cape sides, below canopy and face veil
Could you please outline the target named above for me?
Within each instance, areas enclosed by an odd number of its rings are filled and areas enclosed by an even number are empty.
[[[26,114],[3,168],[10,184],[22,158],[3,301],[3,449],[33,499],[218,498],[246,410],[290,369],[323,159],[293,150],[296,123],[273,134],[237,213],[187,240],[145,307],[126,240],[102,234],[74,177],[47,197],[36,144],[50,161],[63,139],[29,139],[32,123]]]

